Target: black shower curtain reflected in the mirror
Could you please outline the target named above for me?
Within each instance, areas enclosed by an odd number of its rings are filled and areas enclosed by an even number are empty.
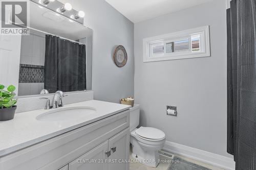
[[[45,89],[86,90],[86,46],[46,35]]]

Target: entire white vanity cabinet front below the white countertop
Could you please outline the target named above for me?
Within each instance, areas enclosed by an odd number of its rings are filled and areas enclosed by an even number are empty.
[[[34,144],[0,158],[0,169],[19,170],[129,170],[129,163],[108,163],[129,159],[129,110],[104,117],[86,126]],[[110,153],[109,157],[106,152]],[[106,160],[83,163],[82,159]],[[117,161],[118,161],[117,160]]]

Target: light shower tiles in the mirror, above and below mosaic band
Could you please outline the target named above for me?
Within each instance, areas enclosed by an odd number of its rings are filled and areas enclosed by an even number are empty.
[[[20,64],[45,65],[45,35],[31,32],[22,36]],[[44,83],[19,83],[18,89],[18,95],[39,94],[44,89]]]

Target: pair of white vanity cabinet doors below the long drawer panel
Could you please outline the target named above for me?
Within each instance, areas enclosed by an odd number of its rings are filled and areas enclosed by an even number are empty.
[[[129,170],[130,130],[126,129],[69,163],[69,170]],[[110,154],[110,155],[108,155]]]

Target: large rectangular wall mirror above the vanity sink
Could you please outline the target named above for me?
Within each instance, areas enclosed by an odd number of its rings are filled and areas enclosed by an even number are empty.
[[[18,96],[91,90],[93,31],[28,3],[30,35],[0,38],[0,84],[13,84]]]

